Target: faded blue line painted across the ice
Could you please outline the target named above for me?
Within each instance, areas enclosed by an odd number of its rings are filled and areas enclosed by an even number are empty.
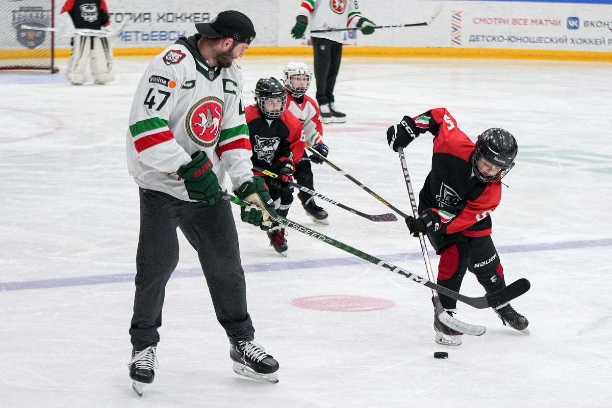
[[[542,244],[524,244],[524,245],[507,245],[498,247],[499,253],[525,253],[525,252],[540,252],[562,249],[579,249],[589,247],[608,247],[612,246],[612,238],[606,239],[590,239],[584,241],[564,241],[564,242],[545,242]],[[433,255],[431,253],[430,255]],[[385,261],[412,261],[422,258],[420,252],[408,253],[391,253],[380,255],[379,258]],[[369,264],[368,261],[361,258],[325,258],[319,260],[305,261],[288,261],[274,263],[257,263],[252,265],[244,265],[244,271],[247,273],[253,272],[272,272],[272,271],[291,271],[292,269],[312,269],[312,268],[329,268],[332,266],[353,266],[359,264]],[[202,276],[202,269],[181,269],[174,271],[173,278],[190,278]],[[84,286],[84,285],[103,285],[105,283],[121,283],[134,282],[135,274],[113,274],[113,275],[95,275],[95,276],[80,276],[57,279],[42,279],[42,280],[26,280],[24,282],[6,282],[0,283],[0,292],[28,290],[28,289],[49,289],[49,288],[65,288],[67,286]]]

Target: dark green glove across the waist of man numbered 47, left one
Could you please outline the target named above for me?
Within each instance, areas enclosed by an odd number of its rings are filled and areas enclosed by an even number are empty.
[[[212,171],[211,159],[204,151],[193,153],[192,161],[183,164],[176,173],[185,182],[190,199],[212,205],[221,196],[217,175]]]

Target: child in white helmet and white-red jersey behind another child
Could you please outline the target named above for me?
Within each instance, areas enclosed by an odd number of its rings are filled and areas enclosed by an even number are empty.
[[[287,109],[295,117],[302,121],[306,145],[318,151],[322,156],[327,157],[329,148],[323,143],[323,126],[319,119],[319,107],[316,102],[306,95],[306,91],[312,82],[312,72],[304,62],[289,62],[283,71],[283,82],[287,90]],[[302,159],[296,163],[296,171],[293,173],[296,183],[300,186],[315,189],[314,176],[310,162],[322,164],[323,160],[319,156],[308,156],[306,151]],[[297,193],[297,198],[302,202],[306,213],[316,224],[328,225],[327,211],[315,203],[315,197],[303,191]]]

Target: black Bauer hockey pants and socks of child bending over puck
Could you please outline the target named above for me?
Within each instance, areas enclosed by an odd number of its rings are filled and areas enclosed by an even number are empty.
[[[461,233],[427,235],[431,246],[440,255],[438,264],[438,285],[458,292],[466,270],[476,275],[487,293],[506,287],[504,268],[490,235],[469,237]],[[439,294],[445,309],[457,307],[457,301]]]

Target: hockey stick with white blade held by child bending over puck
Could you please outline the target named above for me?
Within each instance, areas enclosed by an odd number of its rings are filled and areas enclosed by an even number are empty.
[[[406,188],[408,189],[408,195],[410,196],[410,203],[412,205],[412,214],[414,217],[419,217],[419,210],[417,209],[417,201],[414,197],[414,190],[412,189],[412,182],[410,181],[410,175],[408,173],[408,164],[406,163],[406,156],[404,155],[404,149],[399,147],[397,152],[400,155],[401,167],[404,170],[404,178],[406,181]],[[423,260],[425,261],[425,269],[427,269],[427,277],[431,282],[436,282],[433,277],[433,271],[431,269],[431,262],[429,260],[429,254],[427,252],[427,244],[425,244],[425,237],[423,236],[422,231],[419,231],[419,240],[421,244],[421,251],[423,252]],[[440,298],[438,297],[438,293],[435,290],[431,290],[431,294],[433,295],[433,305],[436,308],[436,313],[438,313],[438,319],[445,326],[450,327],[457,332],[468,334],[471,336],[480,336],[485,333],[487,327],[484,326],[476,326],[475,324],[468,324],[462,321],[459,321],[453,316],[449,315],[444,311],[444,307],[440,303]]]

